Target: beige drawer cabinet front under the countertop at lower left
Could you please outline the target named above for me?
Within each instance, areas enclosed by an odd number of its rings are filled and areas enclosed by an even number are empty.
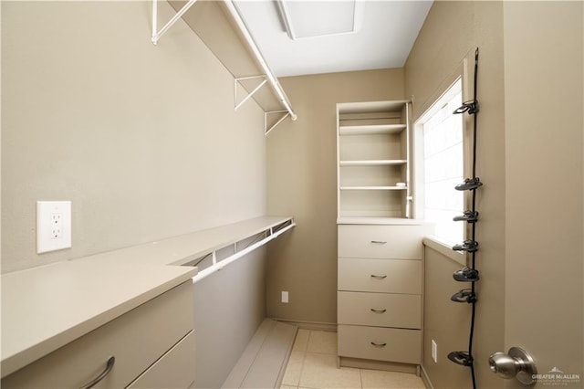
[[[193,383],[191,280],[6,376],[1,384],[84,388],[99,377],[96,388],[187,388]]]

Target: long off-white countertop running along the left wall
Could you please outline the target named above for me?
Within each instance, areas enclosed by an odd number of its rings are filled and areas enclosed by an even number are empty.
[[[199,258],[288,219],[258,217],[3,274],[2,376],[180,285],[198,271],[172,265]]]

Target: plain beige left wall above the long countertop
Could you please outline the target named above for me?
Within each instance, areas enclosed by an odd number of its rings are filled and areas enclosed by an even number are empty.
[[[2,2],[3,271],[265,214],[263,112],[182,21],[150,37],[151,1]],[[37,200],[72,248],[36,254]]]

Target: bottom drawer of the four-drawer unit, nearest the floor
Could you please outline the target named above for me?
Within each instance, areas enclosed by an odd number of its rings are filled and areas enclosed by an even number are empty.
[[[422,362],[422,331],[339,325],[339,356],[398,363]]]

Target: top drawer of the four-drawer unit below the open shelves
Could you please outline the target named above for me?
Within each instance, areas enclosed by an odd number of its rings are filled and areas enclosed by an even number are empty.
[[[339,257],[422,259],[423,226],[339,225]]]

